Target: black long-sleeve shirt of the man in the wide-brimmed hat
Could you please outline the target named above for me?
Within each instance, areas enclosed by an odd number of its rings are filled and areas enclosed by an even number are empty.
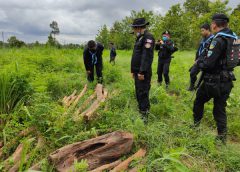
[[[154,37],[148,31],[137,37],[131,60],[132,73],[145,74],[152,71],[154,45]]]

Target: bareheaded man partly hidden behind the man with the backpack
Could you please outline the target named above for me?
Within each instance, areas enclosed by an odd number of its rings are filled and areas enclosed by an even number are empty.
[[[201,27],[201,35],[203,37],[200,46],[198,48],[198,51],[196,53],[195,62],[200,56],[206,56],[207,50],[211,44],[211,41],[213,39],[213,35],[211,34],[211,29],[209,24],[203,24]],[[190,70],[190,86],[188,88],[188,91],[193,91],[195,89],[195,82],[197,81],[197,75],[200,72],[200,69],[197,65],[193,65]]]

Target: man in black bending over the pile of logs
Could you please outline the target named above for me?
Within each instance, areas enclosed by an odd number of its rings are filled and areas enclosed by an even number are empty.
[[[98,83],[102,83],[102,53],[103,45],[93,40],[88,41],[87,47],[83,51],[84,65],[87,71],[87,79],[89,82],[94,81],[94,66],[96,68]]]

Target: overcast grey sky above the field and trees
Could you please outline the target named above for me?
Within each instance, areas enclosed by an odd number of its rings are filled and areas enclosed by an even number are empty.
[[[130,15],[131,10],[153,10],[160,14],[184,0],[0,0],[0,31],[5,41],[11,35],[25,42],[46,42],[49,24],[55,20],[61,43],[83,43],[94,39],[103,24]],[[239,0],[230,0],[234,8]],[[2,40],[2,38],[0,39]]]

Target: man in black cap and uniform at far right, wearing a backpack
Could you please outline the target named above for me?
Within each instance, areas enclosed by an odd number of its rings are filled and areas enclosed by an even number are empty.
[[[211,29],[216,34],[206,57],[200,57],[196,64],[204,72],[203,83],[197,91],[193,107],[194,124],[198,126],[204,111],[204,104],[213,98],[213,116],[216,121],[218,136],[216,140],[226,142],[227,116],[226,105],[235,79],[231,70],[226,69],[228,43],[233,42],[233,32],[228,28],[229,18],[225,14],[212,17]],[[223,36],[223,35],[230,35]]]

